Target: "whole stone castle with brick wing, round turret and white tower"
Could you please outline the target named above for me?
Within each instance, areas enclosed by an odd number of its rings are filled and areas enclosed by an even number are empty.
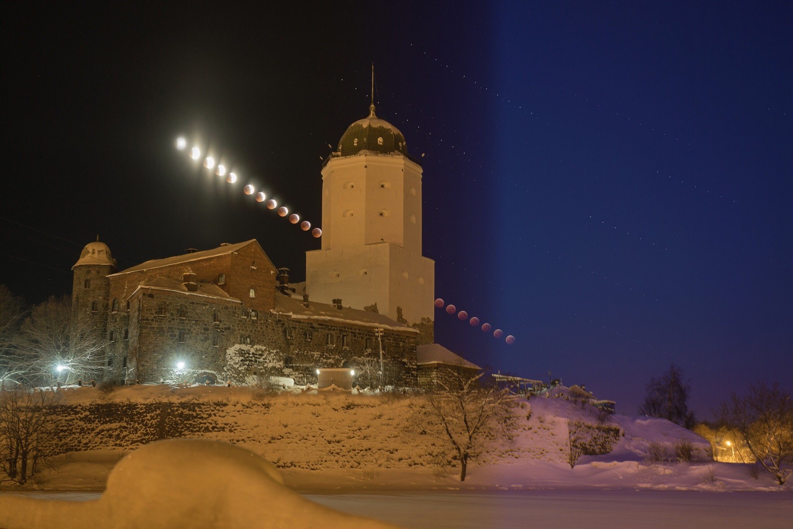
[[[108,379],[305,384],[321,368],[379,364],[382,350],[389,382],[417,386],[435,284],[421,255],[421,166],[371,105],[322,175],[322,248],[306,253],[305,295],[255,239],[121,271],[105,243],[86,245],[72,309],[106,334]]]

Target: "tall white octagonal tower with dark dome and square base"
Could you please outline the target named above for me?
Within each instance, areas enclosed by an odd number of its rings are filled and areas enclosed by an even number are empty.
[[[341,299],[356,309],[377,303],[389,318],[400,309],[409,324],[433,319],[435,261],[421,254],[421,172],[374,104],[347,127],[322,169],[322,249],[306,253],[312,300]]]

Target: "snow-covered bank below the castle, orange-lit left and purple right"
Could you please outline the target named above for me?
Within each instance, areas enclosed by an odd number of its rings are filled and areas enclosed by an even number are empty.
[[[142,446],[145,428],[156,434],[157,424],[162,433],[170,432],[171,423],[189,423],[195,429],[185,436],[245,447],[273,462],[289,488],[303,491],[655,489],[783,491],[788,496],[793,490],[776,485],[765,472],[750,478],[748,466],[707,460],[709,443],[669,421],[616,415],[603,422],[595,409],[567,401],[564,394],[524,403],[516,412],[514,439],[491,439],[469,464],[464,483],[458,481],[458,468],[439,463],[440,440],[408,428],[420,397],[299,390],[268,396],[250,388],[201,386],[127,386],[111,394],[82,387],[63,394],[72,407],[67,429],[75,439],[69,446],[79,444],[82,450],[52,459],[52,468],[33,479],[33,489],[102,490],[113,465]],[[163,402],[182,403],[192,415],[157,415]],[[99,421],[86,411],[100,405],[121,415]],[[140,413],[151,417],[128,417],[125,410],[144,410]],[[582,455],[571,468],[573,423],[606,424],[621,428],[624,436],[609,453]],[[680,440],[691,443],[701,460],[646,460],[651,443],[671,453]]]

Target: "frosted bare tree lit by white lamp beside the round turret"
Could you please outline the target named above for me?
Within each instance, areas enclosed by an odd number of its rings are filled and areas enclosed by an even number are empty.
[[[28,382],[71,383],[104,370],[107,338],[83,318],[72,316],[67,296],[36,305],[14,341],[17,371]]]

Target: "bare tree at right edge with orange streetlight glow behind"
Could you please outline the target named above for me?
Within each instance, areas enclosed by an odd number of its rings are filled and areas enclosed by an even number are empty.
[[[718,410],[718,420],[741,436],[757,461],[780,485],[793,474],[793,400],[779,383],[757,382],[749,392],[732,394]]]

